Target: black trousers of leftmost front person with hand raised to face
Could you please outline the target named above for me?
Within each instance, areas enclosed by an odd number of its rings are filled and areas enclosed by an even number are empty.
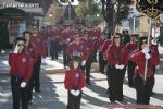
[[[20,100],[22,101],[22,109],[28,109],[27,104],[27,90],[28,86],[21,88],[21,80],[15,76],[11,76],[11,89],[13,97],[13,109],[20,109]]]

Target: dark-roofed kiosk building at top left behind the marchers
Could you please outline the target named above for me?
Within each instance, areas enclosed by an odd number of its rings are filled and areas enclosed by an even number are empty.
[[[2,46],[14,44],[15,37],[32,25],[43,25],[43,10],[37,3],[22,3],[14,0],[0,0],[0,38]]]

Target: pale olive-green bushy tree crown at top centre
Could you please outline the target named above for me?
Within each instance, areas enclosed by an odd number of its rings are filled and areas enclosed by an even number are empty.
[[[97,25],[100,23],[101,17],[98,16],[100,13],[100,7],[95,0],[79,0],[79,4],[76,7],[75,12],[82,24]]]

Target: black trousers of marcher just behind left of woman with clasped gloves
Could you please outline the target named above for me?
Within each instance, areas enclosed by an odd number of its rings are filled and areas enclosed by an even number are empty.
[[[105,64],[106,64],[106,61],[103,59],[103,53],[99,52],[99,68],[100,68],[100,72],[104,73]]]

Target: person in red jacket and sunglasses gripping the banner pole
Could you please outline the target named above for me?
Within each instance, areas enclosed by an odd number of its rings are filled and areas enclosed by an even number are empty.
[[[158,52],[148,46],[147,37],[139,38],[139,52],[131,55],[131,61],[136,63],[134,85],[136,88],[137,100],[139,105],[149,105],[150,95],[154,84],[154,68],[160,63]],[[145,80],[145,69],[147,63],[147,76]]]

